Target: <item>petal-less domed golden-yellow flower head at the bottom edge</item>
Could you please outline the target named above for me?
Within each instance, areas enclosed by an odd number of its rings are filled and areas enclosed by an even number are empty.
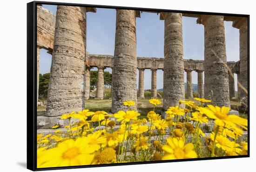
[[[109,164],[115,162],[115,150],[113,148],[106,148],[103,151],[95,154],[92,164]]]

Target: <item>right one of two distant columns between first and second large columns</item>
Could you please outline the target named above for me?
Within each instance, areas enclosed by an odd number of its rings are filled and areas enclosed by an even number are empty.
[[[104,67],[98,66],[96,98],[104,98]]]

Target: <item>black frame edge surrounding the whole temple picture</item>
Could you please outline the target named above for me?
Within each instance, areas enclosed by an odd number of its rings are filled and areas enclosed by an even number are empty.
[[[116,164],[102,164],[102,165],[87,165],[87,166],[65,166],[65,167],[49,167],[37,168],[36,159],[36,119],[37,119],[37,5],[65,5],[65,6],[86,6],[86,7],[99,7],[99,8],[119,8],[119,9],[133,9],[140,11],[161,11],[173,13],[195,13],[195,14],[208,14],[208,15],[225,15],[246,17],[248,19],[248,78],[249,78],[249,15],[247,14],[232,14],[232,13],[209,13],[209,12],[196,12],[196,11],[182,11],[182,10],[167,10],[167,9],[153,9],[153,8],[138,8],[138,7],[125,7],[125,6],[104,6],[104,5],[89,5],[89,4],[74,4],[74,3],[60,3],[60,2],[45,2],[33,1],[27,3],[27,169],[32,171],[42,170],[57,170],[57,169],[72,169],[72,168],[88,168],[99,166],[122,166],[122,165],[135,165],[135,164],[152,164],[152,163],[166,163],[166,162],[180,162],[180,161],[195,161],[195,160],[209,160],[209,159],[231,159],[231,158],[246,158],[250,155],[250,107],[249,107],[249,79],[248,79],[248,155],[238,156],[225,156],[225,157],[212,157],[212,158],[196,158],[196,159],[177,159],[177,160],[161,160],[161,161],[146,161],[146,162],[131,162],[131,163],[116,163]]]

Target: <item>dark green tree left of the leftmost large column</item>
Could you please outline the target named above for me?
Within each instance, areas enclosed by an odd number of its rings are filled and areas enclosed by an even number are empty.
[[[41,99],[47,98],[49,80],[50,73],[39,74],[39,98]]]

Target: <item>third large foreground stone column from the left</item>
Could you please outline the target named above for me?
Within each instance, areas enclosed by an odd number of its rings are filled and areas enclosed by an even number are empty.
[[[185,99],[182,13],[164,13],[163,108]]]

